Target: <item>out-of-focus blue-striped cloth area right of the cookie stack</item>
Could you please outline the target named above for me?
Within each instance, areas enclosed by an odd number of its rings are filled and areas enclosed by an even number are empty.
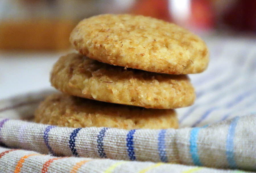
[[[210,63],[205,72],[189,75],[197,98],[191,107],[177,109],[181,128],[256,113],[255,39],[220,36],[206,41]]]

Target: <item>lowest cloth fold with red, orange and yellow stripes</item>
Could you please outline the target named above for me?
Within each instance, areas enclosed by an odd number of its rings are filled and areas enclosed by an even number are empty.
[[[221,170],[180,164],[139,161],[117,161],[81,157],[53,157],[34,151],[0,147],[1,172],[15,173],[238,173],[239,170]]]

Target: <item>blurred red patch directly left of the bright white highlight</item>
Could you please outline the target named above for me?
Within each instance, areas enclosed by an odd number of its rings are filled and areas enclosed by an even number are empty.
[[[138,0],[131,7],[131,13],[171,21],[168,0]]]

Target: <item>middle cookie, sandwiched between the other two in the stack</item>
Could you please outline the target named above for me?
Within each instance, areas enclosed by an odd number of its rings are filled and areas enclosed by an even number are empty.
[[[186,75],[124,69],[72,53],[55,63],[51,84],[79,97],[155,109],[193,104],[195,92]]]

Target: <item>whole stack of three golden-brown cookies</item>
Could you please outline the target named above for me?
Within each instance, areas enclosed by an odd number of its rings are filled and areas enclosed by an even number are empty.
[[[208,49],[187,30],[162,20],[104,14],[82,20],[51,84],[62,91],[38,107],[35,121],[68,127],[178,128],[175,108],[195,91],[186,74],[204,71]]]

